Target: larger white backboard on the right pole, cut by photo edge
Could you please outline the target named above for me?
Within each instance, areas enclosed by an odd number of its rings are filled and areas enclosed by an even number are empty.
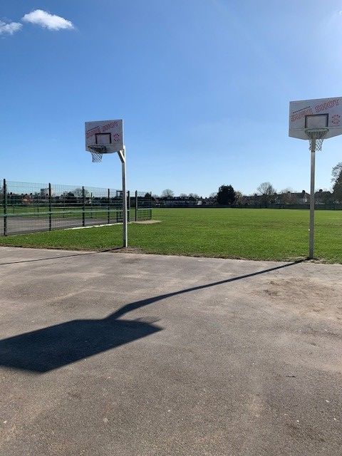
[[[341,135],[342,97],[290,101],[289,136],[307,140],[310,128],[328,128],[325,138]]]

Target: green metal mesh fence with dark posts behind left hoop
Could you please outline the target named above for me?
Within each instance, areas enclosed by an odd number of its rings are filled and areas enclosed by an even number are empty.
[[[128,222],[152,219],[150,192],[127,194]],[[123,192],[0,180],[0,235],[123,222]]]

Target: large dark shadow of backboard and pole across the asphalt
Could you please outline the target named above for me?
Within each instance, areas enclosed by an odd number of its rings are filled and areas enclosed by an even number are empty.
[[[119,319],[130,311],[172,296],[248,279],[259,274],[293,266],[302,261],[305,260],[135,301],[122,306],[118,311],[103,319],[66,321],[3,339],[0,341],[0,366],[36,373],[46,373],[61,368],[162,331],[163,328],[160,326],[144,322],[139,318],[135,320]]]

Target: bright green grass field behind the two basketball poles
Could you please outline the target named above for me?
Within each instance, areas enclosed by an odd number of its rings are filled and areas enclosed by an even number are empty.
[[[203,257],[290,260],[308,254],[309,211],[294,209],[153,209],[157,224],[130,224],[130,247]],[[315,257],[342,263],[342,211],[316,211]],[[102,250],[120,246],[122,227],[0,237],[0,245]]]

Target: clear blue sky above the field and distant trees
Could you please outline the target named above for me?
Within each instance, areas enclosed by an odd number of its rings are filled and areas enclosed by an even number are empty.
[[[37,9],[69,23],[22,19]],[[2,1],[0,177],[120,188],[119,158],[91,162],[84,122],[123,118],[130,190],[309,191],[289,100],[342,95],[341,11],[336,0]],[[331,138],[317,189],[340,161]]]

